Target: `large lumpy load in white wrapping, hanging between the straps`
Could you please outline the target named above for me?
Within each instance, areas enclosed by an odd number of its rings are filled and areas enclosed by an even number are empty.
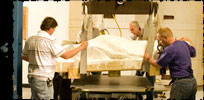
[[[132,41],[114,35],[101,35],[89,40],[87,48],[87,71],[139,70],[147,45],[146,40]],[[64,47],[72,50],[78,45],[69,44]],[[79,63],[80,53],[76,56],[57,62]],[[78,68],[77,64],[72,64]],[[61,68],[62,69],[62,68]]]

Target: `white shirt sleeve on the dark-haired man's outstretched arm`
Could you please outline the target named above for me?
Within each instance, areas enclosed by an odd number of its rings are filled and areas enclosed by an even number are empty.
[[[65,52],[65,49],[60,44],[58,44],[56,41],[54,41],[51,44],[51,53],[55,57],[61,56],[64,52]]]

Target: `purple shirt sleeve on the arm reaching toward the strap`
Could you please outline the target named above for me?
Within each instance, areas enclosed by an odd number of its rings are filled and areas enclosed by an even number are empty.
[[[172,61],[172,59],[173,59],[173,54],[170,54],[169,52],[164,51],[159,57],[159,59],[157,60],[157,64],[159,64],[162,67],[167,67]]]

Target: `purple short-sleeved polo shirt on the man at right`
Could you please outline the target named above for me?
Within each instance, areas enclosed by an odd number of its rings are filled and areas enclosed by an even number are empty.
[[[169,66],[171,78],[181,78],[193,75],[191,57],[195,49],[184,41],[175,41],[166,47],[157,63],[162,67]]]

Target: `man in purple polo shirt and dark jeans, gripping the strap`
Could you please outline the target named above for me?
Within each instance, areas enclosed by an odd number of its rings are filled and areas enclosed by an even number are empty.
[[[196,50],[192,41],[187,38],[176,40],[169,28],[159,29],[157,37],[165,47],[163,53],[158,60],[145,53],[144,61],[159,68],[169,67],[172,78],[170,99],[195,99],[197,82],[193,77],[191,57],[196,56]]]

